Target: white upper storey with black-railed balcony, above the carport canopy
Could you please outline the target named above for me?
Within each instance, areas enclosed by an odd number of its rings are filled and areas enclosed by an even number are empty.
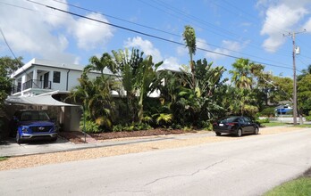
[[[83,69],[77,64],[32,59],[13,73],[13,95],[35,96],[55,91],[69,93],[74,86],[80,85],[78,78]],[[113,75],[108,69],[104,73]],[[88,74],[89,78],[98,76],[98,72]]]

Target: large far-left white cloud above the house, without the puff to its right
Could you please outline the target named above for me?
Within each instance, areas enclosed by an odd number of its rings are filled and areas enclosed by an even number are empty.
[[[40,3],[46,4],[46,2]],[[4,19],[0,20],[0,26],[14,53],[18,56],[24,56],[24,53],[27,53],[33,57],[73,61],[73,55],[64,53],[68,46],[67,38],[60,33],[53,34],[54,27],[63,26],[68,18],[63,18],[63,14],[58,15],[51,9],[38,7],[39,5],[29,2],[18,1],[14,4],[32,10],[10,5],[0,7],[0,19]],[[63,6],[62,9],[67,8]],[[14,13],[13,16],[12,13]]]

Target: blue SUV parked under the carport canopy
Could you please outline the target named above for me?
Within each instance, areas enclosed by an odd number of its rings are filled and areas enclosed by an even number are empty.
[[[16,142],[48,139],[57,140],[58,127],[44,110],[17,110],[11,121],[11,133]]]

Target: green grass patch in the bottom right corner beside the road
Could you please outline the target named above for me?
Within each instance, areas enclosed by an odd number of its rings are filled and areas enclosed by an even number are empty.
[[[311,194],[311,177],[300,177],[296,180],[281,184],[266,192],[265,196],[309,196]]]

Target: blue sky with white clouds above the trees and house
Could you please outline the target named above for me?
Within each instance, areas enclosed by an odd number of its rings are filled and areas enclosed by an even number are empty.
[[[137,48],[179,69],[189,64],[186,25],[196,32],[195,61],[231,70],[247,58],[291,78],[295,33],[297,74],[311,64],[311,0],[0,0],[0,57],[87,65]]]

